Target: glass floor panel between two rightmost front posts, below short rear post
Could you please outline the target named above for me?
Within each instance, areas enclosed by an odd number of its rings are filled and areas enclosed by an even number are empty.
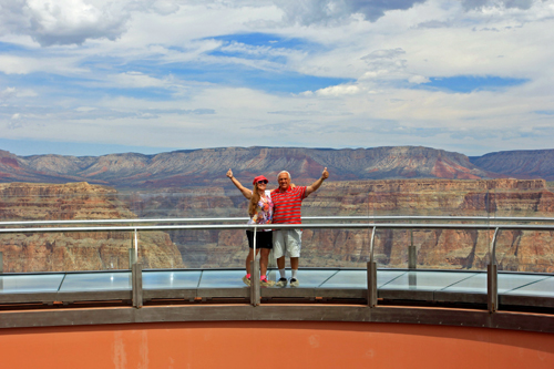
[[[473,273],[406,271],[400,277],[380,286],[382,289],[440,290],[473,276]]]

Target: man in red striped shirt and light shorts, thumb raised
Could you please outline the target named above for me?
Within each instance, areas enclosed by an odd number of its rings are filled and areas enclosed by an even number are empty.
[[[271,199],[274,202],[274,224],[301,224],[300,208],[302,199],[309,196],[312,192],[317,191],[325,180],[329,177],[327,167],[324,170],[321,177],[314,182],[310,186],[290,187],[290,173],[283,171],[277,176],[279,188],[271,192]],[[279,268],[280,279],[277,286],[287,286],[287,276],[285,274],[285,256],[290,257],[290,268],[293,276],[290,278],[290,287],[298,287],[298,258],[300,257],[301,248],[300,229],[277,229],[274,232],[274,255],[277,259],[277,267]]]

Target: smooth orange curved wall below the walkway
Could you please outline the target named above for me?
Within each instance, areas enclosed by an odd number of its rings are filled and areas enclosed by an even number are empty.
[[[445,326],[219,321],[0,330],[0,368],[554,368],[554,335]]]

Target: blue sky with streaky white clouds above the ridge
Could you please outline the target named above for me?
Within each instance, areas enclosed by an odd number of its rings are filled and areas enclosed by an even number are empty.
[[[554,148],[554,0],[0,0],[0,150]]]

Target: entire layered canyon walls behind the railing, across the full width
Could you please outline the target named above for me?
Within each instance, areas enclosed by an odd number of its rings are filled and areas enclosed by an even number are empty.
[[[238,178],[249,181],[243,174]],[[246,206],[228,183],[150,191],[88,183],[0,184],[2,221],[244,217]],[[554,193],[544,180],[513,178],[327,181],[302,205],[305,217],[358,215],[369,222],[386,215],[468,215],[493,224],[502,216],[553,214]],[[406,268],[408,246],[413,245],[418,268],[481,270],[489,263],[493,230],[378,228],[375,255],[379,267]],[[370,235],[370,229],[306,228],[301,267],[365,267]],[[553,237],[554,232],[502,230],[499,269],[554,273]],[[131,242],[130,233],[20,233],[2,235],[0,252],[4,271],[127,268]],[[244,230],[142,232],[140,246],[146,268],[240,268],[247,250]]]

